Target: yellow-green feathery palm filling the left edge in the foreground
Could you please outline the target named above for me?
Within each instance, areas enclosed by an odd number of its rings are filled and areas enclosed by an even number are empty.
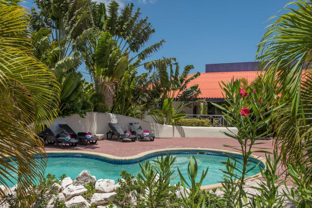
[[[34,201],[27,188],[44,177],[46,160],[35,156],[45,152],[35,131],[57,116],[59,99],[55,76],[33,56],[29,16],[18,2],[0,1],[0,183],[17,180],[16,207]]]

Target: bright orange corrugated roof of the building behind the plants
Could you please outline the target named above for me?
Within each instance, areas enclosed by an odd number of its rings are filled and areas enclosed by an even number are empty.
[[[198,96],[199,99],[202,98],[224,98],[222,94],[222,89],[220,88],[220,84],[226,81],[231,81],[232,78],[240,79],[246,78],[248,80],[248,84],[250,84],[253,80],[255,80],[259,73],[258,71],[236,71],[236,72],[211,72],[211,73],[201,73],[199,77],[195,80],[190,81],[188,87],[198,84],[199,89],[202,91],[202,94]],[[188,75],[189,76],[192,76]]]

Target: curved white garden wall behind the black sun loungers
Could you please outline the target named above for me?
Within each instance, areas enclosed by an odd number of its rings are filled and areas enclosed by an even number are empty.
[[[57,129],[57,122],[66,122],[75,132],[91,132],[92,134],[105,134],[109,131],[107,123],[119,123],[124,130],[130,130],[129,123],[140,123],[144,130],[155,134],[156,137],[207,137],[207,138],[227,138],[220,131],[237,133],[237,129],[230,127],[187,127],[187,126],[170,126],[158,123],[148,122],[141,119],[132,118],[118,114],[107,114],[88,112],[85,118],[79,115],[71,115],[65,118],[54,120],[55,127],[50,126],[54,133],[60,133]]]

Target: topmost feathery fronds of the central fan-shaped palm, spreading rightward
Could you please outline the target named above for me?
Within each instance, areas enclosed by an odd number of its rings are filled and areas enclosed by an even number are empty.
[[[148,22],[148,17],[144,19],[140,17],[140,8],[134,12],[133,7],[133,3],[127,4],[119,14],[119,4],[115,0],[107,5],[107,11],[104,3],[100,3],[98,5],[96,27],[100,31],[108,31],[112,35],[123,55],[129,56],[128,65],[135,62],[137,67],[144,65],[145,69],[152,70],[153,68],[159,68],[162,64],[170,64],[171,60],[175,58],[141,62],[157,52],[163,46],[165,40],[143,49],[155,33],[155,29]]]

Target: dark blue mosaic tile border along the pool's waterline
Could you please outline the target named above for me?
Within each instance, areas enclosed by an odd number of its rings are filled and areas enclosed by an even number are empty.
[[[71,158],[87,158],[87,159],[93,159],[93,160],[99,160],[102,162],[107,162],[110,164],[117,164],[117,165],[129,165],[129,164],[135,164],[138,162],[142,162],[144,160],[148,160],[152,157],[158,157],[158,156],[163,156],[163,155],[179,155],[179,154],[198,154],[198,152],[201,152],[201,154],[205,155],[215,155],[215,156],[223,156],[227,157],[226,154],[228,154],[231,157],[237,158],[237,159],[242,159],[242,155],[236,154],[236,153],[231,153],[222,151],[213,151],[213,150],[166,150],[166,151],[159,151],[159,152],[153,152],[147,155],[144,155],[142,157],[138,158],[133,158],[133,159],[113,159],[109,157],[104,157],[100,155],[94,155],[94,154],[88,154],[88,153],[74,153],[74,152],[60,152],[60,153],[47,153],[48,158],[58,158],[58,157],[71,157]],[[35,155],[37,158],[41,158],[40,155]],[[15,158],[12,158],[13,161],[16,161]],[[6,160],[7,161],[7,160]],[[262,168],[265,167],[264,163],[256,158],[249,157],[248,159],[249,162],[253,163],[260,163],[260,166]]]

